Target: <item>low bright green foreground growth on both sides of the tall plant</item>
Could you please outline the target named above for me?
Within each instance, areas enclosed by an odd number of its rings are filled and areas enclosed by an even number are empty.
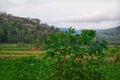
[[[120,64],[104,67],[106,80],[120,79]],[[52,80],[54,65],[36,59],[35,56],[0,60],[0,80]]]

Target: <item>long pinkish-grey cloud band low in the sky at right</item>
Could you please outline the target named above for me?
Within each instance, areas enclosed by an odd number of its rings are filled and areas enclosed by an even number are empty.
[[[87,14],[82,16],[69,16],[57,19],[58,21],[64,22],[75,22],[75,23],[100,23],[104,21],[120,21],[118,13],[104,13],[104,14]]]

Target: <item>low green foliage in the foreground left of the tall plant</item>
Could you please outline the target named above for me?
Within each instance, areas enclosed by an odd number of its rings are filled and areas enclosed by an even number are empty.
[[[34,56],[17,60],[0,60],[1,80],[53,80],[53,63],[38,60]]]

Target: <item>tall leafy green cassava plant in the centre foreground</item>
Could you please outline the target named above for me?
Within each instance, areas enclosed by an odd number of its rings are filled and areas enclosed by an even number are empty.
[[[46,54],[43,59],[56,65],[51,77],[55,80],[104,80],[104,49],[106,41],[95,40],[94,30],[83,30],[81,35],[75,29],[55,33],[47,38]]]

